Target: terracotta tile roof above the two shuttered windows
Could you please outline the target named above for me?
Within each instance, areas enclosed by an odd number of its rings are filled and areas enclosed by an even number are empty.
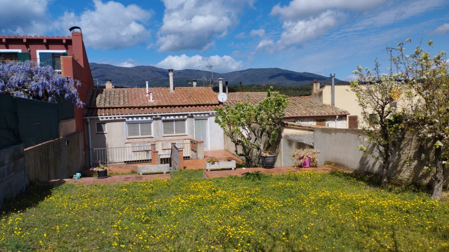
[[[132,115],[150,113],[189,113],[213,111],[220,106],[210,87],[112,88],[89,91],[84,116]]]

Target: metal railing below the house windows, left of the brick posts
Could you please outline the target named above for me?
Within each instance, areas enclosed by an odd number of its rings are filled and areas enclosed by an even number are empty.
[[[90,149],[92,163],[131,164],[151,162],[151,146]],[[90,164],[92,165],[92,164]]]

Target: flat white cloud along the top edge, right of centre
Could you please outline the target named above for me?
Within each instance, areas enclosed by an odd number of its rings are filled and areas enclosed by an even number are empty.
[[[296,21],[317,16],[328,9],[348,9],[352,11],[370,11],[386,0],[350,1],[350,0],[292,0],[288,6],[277,4],[271,15],[280,15],[284,20]],[[399,8],[398,8],[399,9]]]

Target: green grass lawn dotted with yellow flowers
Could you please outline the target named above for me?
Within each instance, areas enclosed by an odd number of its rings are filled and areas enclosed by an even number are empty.
[[[449,251],[449,202],[423,192],[339,172],[195,177],[31,187],[0,209],[0,251]]]

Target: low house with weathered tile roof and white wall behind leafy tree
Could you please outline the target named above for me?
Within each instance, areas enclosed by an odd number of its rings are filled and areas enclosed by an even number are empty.
[[[233,106],[238,101],[257,103],[267,97],[267,92],[236,92],[229,93],[225,104]],[[344,109],[339,109],[329,104],[319,103],[309,96],[288,97],[290,103],[285,109],[282,121],[297,122],[306,125],[326,126],[334,128],[347,128],[346,116],[349,114]]]

